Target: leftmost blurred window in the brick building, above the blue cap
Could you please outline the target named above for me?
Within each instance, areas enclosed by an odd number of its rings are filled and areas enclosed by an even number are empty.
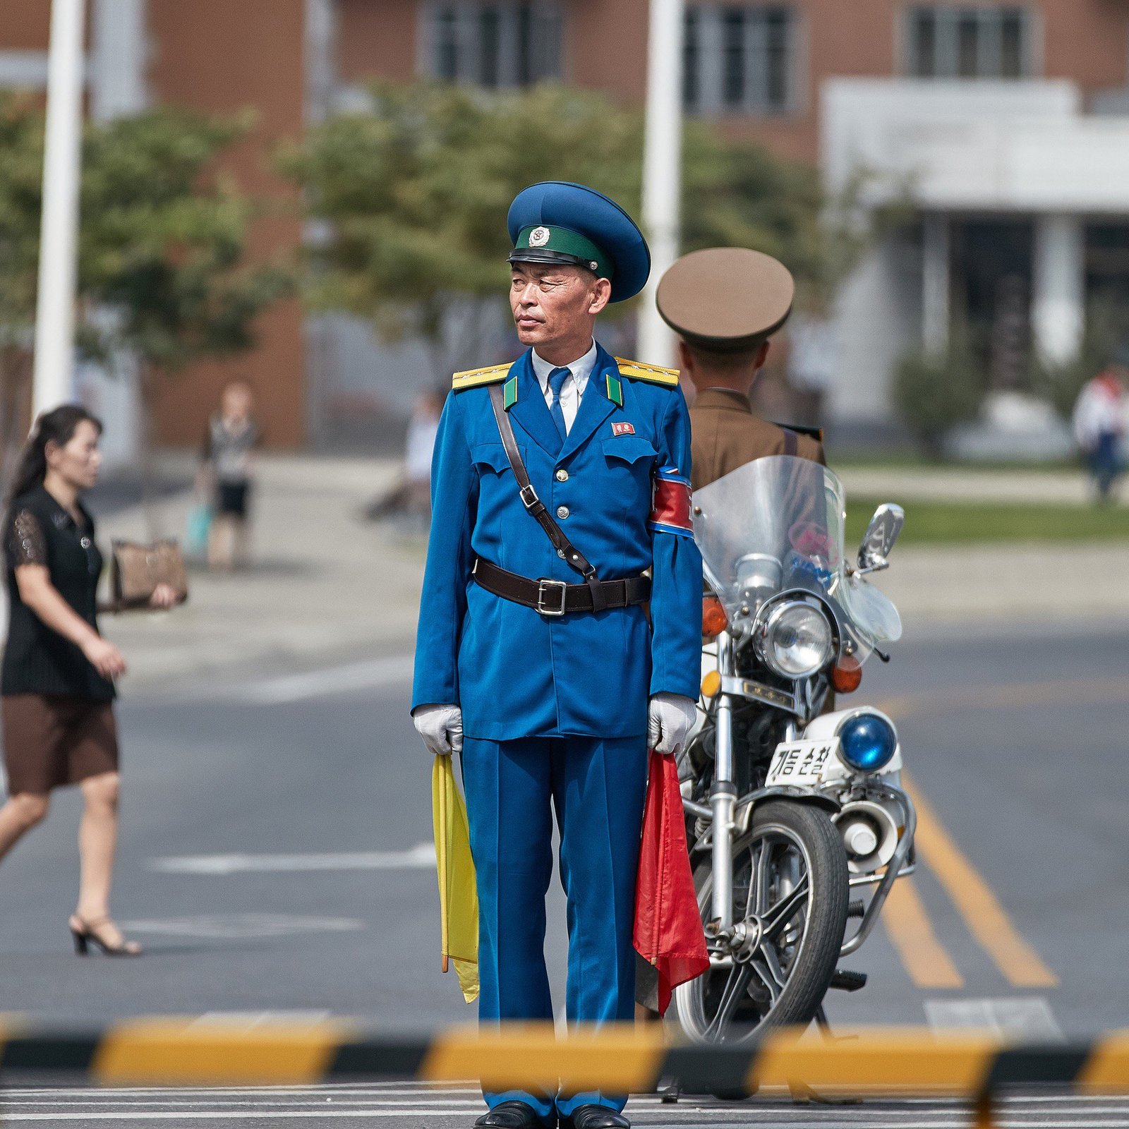
[[[488,89],[561,77],[554,0],[457,0],[423,8],[423,69]]]

